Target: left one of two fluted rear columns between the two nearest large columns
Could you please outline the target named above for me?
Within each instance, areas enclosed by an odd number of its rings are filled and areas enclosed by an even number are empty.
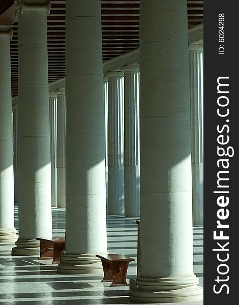
[[[124,74],[108,77],[108,206],[109,215],[124,215]]]

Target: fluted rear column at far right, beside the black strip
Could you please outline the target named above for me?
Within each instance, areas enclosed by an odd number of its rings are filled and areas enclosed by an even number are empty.
[[[203,225],[203,45],[189,45],[193,224]]]

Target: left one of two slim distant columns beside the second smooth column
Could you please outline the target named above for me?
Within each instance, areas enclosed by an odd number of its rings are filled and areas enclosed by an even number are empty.
[[[56,171],[56,95],[49,95],[50,150],[51,150],[51,206],[57,207],[57,171]]]

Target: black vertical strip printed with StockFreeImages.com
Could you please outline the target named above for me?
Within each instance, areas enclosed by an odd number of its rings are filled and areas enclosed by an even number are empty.
[[[236,301],[237,272],[239,270],[237,261],[239,261],[237,253],[237,236],[239,224],[238,218],[238,199],[237,190],[239,190],[238,179],[238,138],[239,138],[239,65],[237,59],[237,41],[238,41],[238,2],[236,1],[204,1],[204,304],[234,304]],[[225,42],[219,42],[219,14],[224,14],[225,18]],[[219,54],[218,48],[221,45],[225,47],[225,54]],[[229,76],[229,115],[226,118],[217,115],[217,79],[221,76]],[[229,119],[229,123],[226,123]],[[227,275],[220,276],[222,279],[229,276],[227,282],[218,284],[215,279],[218,276],[217,267],[220,262],[217,259],[217,241],[213,238],[213,231],[217,229],[217,205],[218,194],[213,192],[217,189],[217,173],[220,170],[217,167],[217,160],[220,159],[217,154],[217,125],[229,126],[229,143],[225,146],[234,148],[234,156],[223,157],[229,159],[229,218],[224,223],[229,224],[229,229],[224,229],[224,235],[229,234],[229,259],[227,262],[229,271]],[[224,132],[224,135],[227,135]],[[226,170],[226,169],[225,169]],[[226,189],[221,189],[225,191]],[[226,208],[226,207],[225,207]],[[224,245],[226,240],[222,240]],[[222,253],[222,252],[221,252]],[[226,252],[224,252],[225,255]],[[223,257],[223,256],[222,256]],[[238,258],[237,258],[238,257]],[[223,262],[222,262],[223,263]],[[223,270],[223,269],[221,269]],[[225,270],[225,269],[224,269]],[[214,285],[217,289],[220,285],[227,284],[220,293],[213,291]]]

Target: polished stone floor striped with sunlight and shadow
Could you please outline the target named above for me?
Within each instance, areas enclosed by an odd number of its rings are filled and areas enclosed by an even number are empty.
[[[15,227],[18,229],[15,207]],[[136,218],[107,217],[108,252],[129,255],[137,261]],[[65,235],[65,209],[52,208],[52,235]],[[194,272],[203,285],[203,228],[193,228]],[[102,275],[58,275],[56,265],[36,256],[12,257],[13,244],[0,243],[0,304],[95,305],[129,304],[129,287],[109,287]],[[127,281],[136,276],[131,262]],[[186,304],[186,303],[181,303]],[[189,303],[187,303],[189,305]],[[202,301],[190,305],[202,305]]]

